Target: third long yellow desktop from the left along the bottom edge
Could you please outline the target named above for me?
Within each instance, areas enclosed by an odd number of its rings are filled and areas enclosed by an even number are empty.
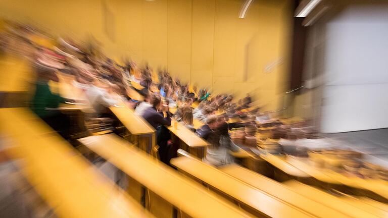
[[[173,158],[170,162],[178,169],[270,217],[316,217],[200,160],[182,156]]]

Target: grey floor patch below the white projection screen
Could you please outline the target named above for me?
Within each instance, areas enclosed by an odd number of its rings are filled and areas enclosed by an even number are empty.
[[[368,154],[372,162],[388,167],[388,128],[328,134]]]

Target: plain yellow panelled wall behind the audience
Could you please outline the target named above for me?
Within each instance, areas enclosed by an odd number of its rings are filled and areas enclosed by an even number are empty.
[[[58,35],[93,36],[110,57],[147,61],[215,93],[252,92],[265,108],[279,108],[288,78],[292,1],[256,0],[238,19],[242,2],[2,0],[0,16]],[[282,64],[265,72],[280,58]]]

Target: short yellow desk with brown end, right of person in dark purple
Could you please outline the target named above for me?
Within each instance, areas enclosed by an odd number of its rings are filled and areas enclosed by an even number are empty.
[[[187,129],[185,126],[177,123],[176,127],[177,128],[174,128],[174,124],[172,124],[172,126],[167,128],[174,136],[176,136],[176,138],[179,139],[179,147],[192,155],[203,158],[206,155],[206,147],[210,144],[191,130]]]

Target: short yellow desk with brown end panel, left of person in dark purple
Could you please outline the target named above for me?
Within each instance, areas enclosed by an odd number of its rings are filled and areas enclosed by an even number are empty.
[[[155,129],[142,117],[137,116],[123,102],[119,105],[111,106],[110,110],[129,131],[130,137],[127,140],[150,153],[156,145]]]

